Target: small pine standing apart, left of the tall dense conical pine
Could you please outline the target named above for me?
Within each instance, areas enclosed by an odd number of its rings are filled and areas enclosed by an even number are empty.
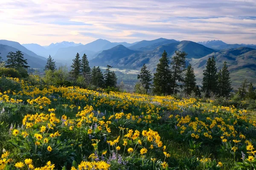
[[[145,88],[145,91],[147,92],[149,89],[149,86],[151,85],[150,81],[152,75],[150,73],[150,71],[148,71],[147,66],[145,64],[143,64],[141,70],[140,70],[140,74],[138,74],[138,79],[140,79],[141,84],[143,85],[143,87]]]

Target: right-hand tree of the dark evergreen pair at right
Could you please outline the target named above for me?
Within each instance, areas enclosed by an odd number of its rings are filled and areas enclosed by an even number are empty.
[[[223,63],[222,69],[218,72],[218,95],[219,96],[224,96],[224,97],[229,97],[230,92],[232,90],[231,87],[231,81],[230,81],[230,74],[227,69],[227,62],[225,61]]]

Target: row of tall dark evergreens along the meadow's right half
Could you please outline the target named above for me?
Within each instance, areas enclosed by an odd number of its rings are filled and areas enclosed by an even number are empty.
[[[152,78],[152,74],[144,64],[140,70],[140,74],[138,74],[140,84],[137,84],[135,89],[142,88],[143,91],[140,92],[147,93],[150,87],[152,87],[153,93],[157,95],[173,95],[182,90],[186,96],[194,93],[195,96],[201,97],[202,92],[206,97],[212,94],[223,97],[230,96],[233,88],[231,87],[230,73],[226,61],[223,63],[221,70],[217,71],[215,57],[212,56],[207,60],[200,90],[196,84],[194,68],[191,64],[186,68],[185,60],[187,55],[185,52],[175,51],[175,55],[169,61],[168,54],[164,50],[157,64],[154,77]],[[244,98],[246,89],[249,86],[246,81],[239,88],[241,98]],[[140,85],[142,87],[139,87]],[[250,83],[248,91],[250,91],[252,96],[256,96],[252,83]]]

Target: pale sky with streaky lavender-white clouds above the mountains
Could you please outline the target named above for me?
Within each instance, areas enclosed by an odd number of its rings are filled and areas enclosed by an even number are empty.
[[[0,0],[0,39],[256,44],[256,0]]]

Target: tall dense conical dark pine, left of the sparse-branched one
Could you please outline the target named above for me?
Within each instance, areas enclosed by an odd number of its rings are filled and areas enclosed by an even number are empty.
[[[153,78],[154,94],[169,95],[171,92],[170,80],[172,78],[171,71],[169,69],[169,61],[167,58],[167,53],[164,50],[162,57],[159,59],[157,64],[156,73]]]

